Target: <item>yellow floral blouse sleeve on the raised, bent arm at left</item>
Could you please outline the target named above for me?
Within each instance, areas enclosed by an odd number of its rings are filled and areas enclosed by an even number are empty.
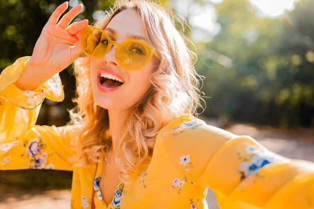
[[[45,97],[64,99],[59,74],[33,91],[14,84],[29,59],[19,58],[0,75],[0,169],[72,170],[70,139],[77,127],[35,125]]]

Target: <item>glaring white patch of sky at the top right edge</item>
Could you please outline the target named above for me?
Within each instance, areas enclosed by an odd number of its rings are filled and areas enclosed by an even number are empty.
[[[250,0],[250,2],[265,15],[276,17],[282,15],[286,10],[293,10],[295,3],[299,0]]]

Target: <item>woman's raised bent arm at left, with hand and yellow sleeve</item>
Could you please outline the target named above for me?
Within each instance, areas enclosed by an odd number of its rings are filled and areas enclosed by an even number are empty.
[[[82,53],[81,31],[87,20],[71,23],[82,11],[68,3],[52,13],[32,57],[22,57],[0,75],[0,169],[54,168],[70,170],[69,141],[75,126],[35,126],[44,98],[64,98],[59,72]],[[60,21],[59,21],[60,19]]]

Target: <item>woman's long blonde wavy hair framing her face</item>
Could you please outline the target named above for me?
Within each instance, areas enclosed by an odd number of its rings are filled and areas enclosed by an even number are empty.
[[[151,88],[131,108],[117,148],[119,177],[125,183],[137,165],[150,161],[158,131],[182,113],[197,116],[203,100],[203,92],[199,90],[203,76],[194,68],[196,54],[187,47],[188,39],[183,32],[176,29],[173,13],[166,12],[160,2],[115,1],[110,12],[93,26],[104,29],[116,14],[126,9],[138,12],[148,42],[161,55],[161,60],[149,79]],[[71,161],[86,166],[98,162],[109,146],[109,118],[108,110],[93,101],[90,57],[82,54],[74,66],[77,89],[72,100],[77,105],[69,110],[70,124],[78,124],[80,128],[71,142],[76,151]]]

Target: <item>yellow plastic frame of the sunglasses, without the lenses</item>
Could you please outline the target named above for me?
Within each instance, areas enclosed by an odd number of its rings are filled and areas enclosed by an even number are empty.
[[[108,47],[107,47],[107,49],[106,49],[103,53],[101,53],[99,56],[90,55],[90,54],[88,54],[88,53],[85,51],[85,49],[83,49],[83,40],[85,40],[85,37],[88,36],[89,33],[91,33],[91,32],[94,31],[94,30],[97,30],[97,31],[99,31],[100,33],[104,34],[104,35],[107,37],[107,40],[108,40]],[[92,38],[93,38],[93,36],[92,36]],[[98,42],[98,39],[95,40],[95,41]],[[142,45],[142,46],[145,48],[145,50],[146,50],[146,52],[147,52],[145,62],[144,62],[143,64],[141,64],[140,66],[136,66],[136,68],[132,68],[132,69],[130,69],[129,67],[125,66],[125,65],[122,63],[122,61],[120,60],[119,56],[118,56],[118,55],[120,54],[121,46],[123,46],[123,45],[125,45],[125,44],[128,44],[128,43],[137,43],[137,44],[140,44],[140,45]],[[152,55],[154,55],[157,59],[161,60],[161,56],[154,50],[154,48],[152,48],[151,46],[149,46],[149,45],[147,45],[147,44],[145,44],[144,42],[141,42],[141,41],[139,41],[139,40],[136,40],[136,39],[129,39],[129,40],[125,40],[125,41],[123,41],[123,42],[121,42],[121,43],[118,43],[118,42],[116,42],[116,41],[110,40],[109,35],[108,35],[106,32],[104,32],[103,30],[99,29],[99,28],[95,28],[95,27],[92,27],[92,26],[87,26],[87,27],[85,27],[85,28],[83,29],[83,33],[82,33],[82,37],[81,37],[81,49],[82,49],[82,51],[83,51],[83,53],[84,53],[85,55],[87,55],[87,56],[89,56],[89,57],[93,57],[93,58],[100,58],[100,57],[103,57],[104,55],[106,55],[106,54],[109,52],[109,50],[110,50],[110,49],[112,48],[112,46],[114,46],[114,45],[117,47],[117,49],[116,49],[116,60],[117,60],[117,62],[119,63],[120,66],[122,66],[123,68],[128,69],[128,70],[138,70],[139,68],[145,66],[145,65],[147,64],[147,62],[149,62],[149,60],[151,59]]]

